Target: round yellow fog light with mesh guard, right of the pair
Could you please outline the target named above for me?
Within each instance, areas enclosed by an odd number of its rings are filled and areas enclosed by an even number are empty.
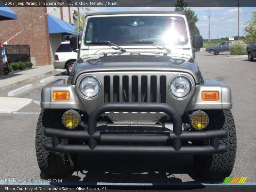
[[[196,130],[203,130],[209,124],[209,117],[204,111],[195,111],[190,115],[190,125]]]

